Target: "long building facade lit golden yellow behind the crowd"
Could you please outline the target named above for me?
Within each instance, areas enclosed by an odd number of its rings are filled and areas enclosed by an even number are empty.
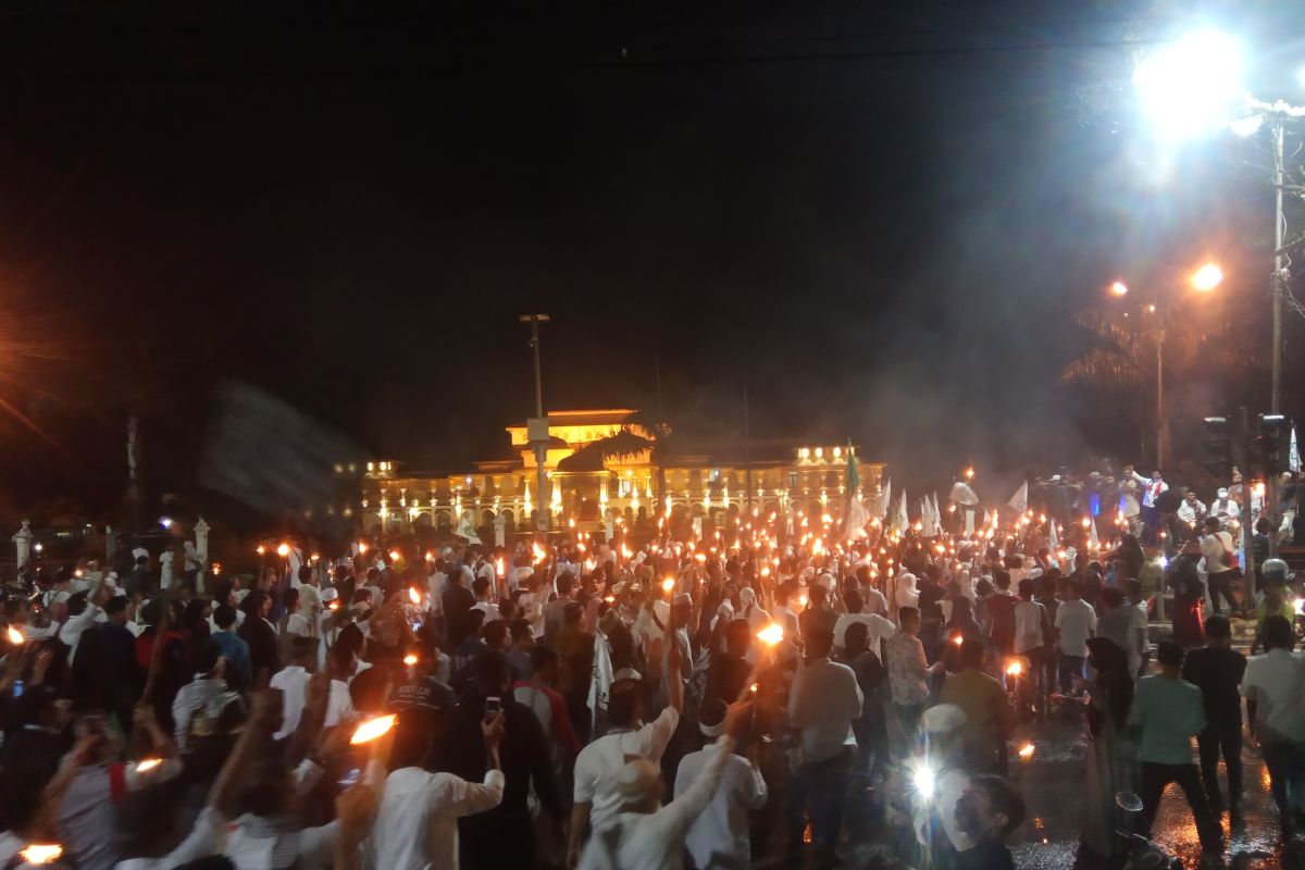
[[[599,457],[592,447],[619,433],[636,436],[630,440],[636,446],[649,437],[626,423],[632,413],[629,408],[552,411],[544,493],[538,490],[535,451],[521,423],[506,427],[512,458],[478,462],[470,471],[419,473],[394,460],[337,464],[338,475],[356,470],[358,496],[346,498],[352,503],[328,505],[328,511],[346,511],[365,535],[452,532],[459,522],[470,522],[509,536],[535,528],[540,510],[548,511],[552,531],[607,535],[616,528],[646,531],[667,518],[672,528],[693,520],[699,528],[729,528],[749,515],[842,515],[851,445],[752,442],[656,460],[649,449]],[[591,449],[577,455],[586,446]],[[857,463],[861,492],[876,493],[883,464],[860,457]]]

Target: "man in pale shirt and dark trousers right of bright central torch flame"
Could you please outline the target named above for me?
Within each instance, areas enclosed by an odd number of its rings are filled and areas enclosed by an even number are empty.
[[[830,660],[834,633],[808,625],[806,659],[788,693],[788,723],[801,730],[801,764],[793,777],[795,843],[801,841],[801,809],[810,802],[812,841],[817,854],[833,857],[843,824],[843,805],[852,773],[861,717],[861,687],[844,664]]]

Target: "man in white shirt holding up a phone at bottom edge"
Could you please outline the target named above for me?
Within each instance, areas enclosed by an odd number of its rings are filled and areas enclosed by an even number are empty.
[[[458,819],[502,802],[505,780],[499,762],[502,712],[482,724],[489,754],[483,783],[424,770],[431,754],[431,719],[403,711],[390,750],[390,775],[367,845],[377,870],[455,870]]]

